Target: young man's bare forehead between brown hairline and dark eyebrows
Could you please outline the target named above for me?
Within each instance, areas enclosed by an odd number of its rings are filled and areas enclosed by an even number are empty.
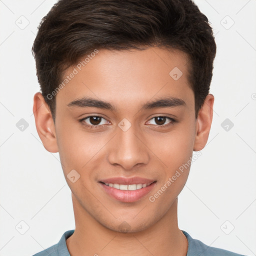
[[[98,49],[65,70],[56,106],[82,97],[111,102],[118,107],[139,106],[153,98],[172,96],[193,105],[188,82],[188,58],[179,50]]]

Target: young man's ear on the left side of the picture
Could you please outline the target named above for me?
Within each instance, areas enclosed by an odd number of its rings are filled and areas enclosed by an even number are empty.
[[[34,94],[33,114],[36,130],[44,148],[49,152],[58,152],[55,125],[49,106],[40,92]]]

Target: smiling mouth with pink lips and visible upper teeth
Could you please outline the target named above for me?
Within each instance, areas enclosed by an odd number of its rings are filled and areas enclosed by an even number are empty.
[[[156,180],[145,178],[109,178],[98,182],[103,191],[121,202],[135,202],[148,194],[156,184]]]

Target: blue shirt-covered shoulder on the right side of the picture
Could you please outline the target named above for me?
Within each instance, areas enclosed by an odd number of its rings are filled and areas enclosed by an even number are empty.
[[[200,240],[193,239],[186,231],[182,230],[188,240],[187,256],[245,256],[235,252],[211,247]]]

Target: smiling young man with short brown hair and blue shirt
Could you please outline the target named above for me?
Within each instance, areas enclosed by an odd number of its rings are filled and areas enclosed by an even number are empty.
[[[44,255],[230,255],[177,223],[214,96],[212,28],[192,0],[59,0],[32,46],[38,135],[59,152],[75,229]]]

